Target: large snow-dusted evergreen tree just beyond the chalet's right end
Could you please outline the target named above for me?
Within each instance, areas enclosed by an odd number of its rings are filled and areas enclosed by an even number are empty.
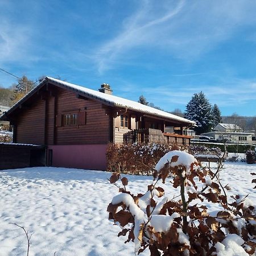
[[[203,92],[195,93],[188,102],[184,117],[195,121],[197,134],[207,133],[213,127],[212,106]]]

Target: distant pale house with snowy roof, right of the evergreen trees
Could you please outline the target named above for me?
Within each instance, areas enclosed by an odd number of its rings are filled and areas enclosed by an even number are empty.
[[[253,143],[253,133],[243,133],[242,128],[234,123],[218,123],[213,131],[201,135],[213,137],[219,141],[226,139],[230,142]]]

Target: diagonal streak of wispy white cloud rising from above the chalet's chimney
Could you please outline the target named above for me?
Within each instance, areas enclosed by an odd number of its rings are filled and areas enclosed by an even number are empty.
[[[164,10],[164,13],[150,15],[153,6],[149,1],[142,1],[137,13],[123,22],[123,30],[115,38],[97,49],[98,71],[102,73],[109,69],[110,65],[118,61],[118,55],[122,55],[127,49],[141,46],[146,42],[150,44],[152,36],[157,36],[156,27],[172,19],[180,12],[183,5],[184,1],[179,1],[175,7]]]

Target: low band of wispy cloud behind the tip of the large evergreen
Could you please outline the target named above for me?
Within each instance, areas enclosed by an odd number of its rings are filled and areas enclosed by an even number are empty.
[[[243,105],[254,105],[256,102],[256,80],[237,79],[229,77],[226,81],[213,84],[189,85],[165,84],[150,89],[145,93],[148,101],[154,102],[166,110],[172,110],[175,106],[184,106],[191,100],[194,93],[204,92],[212,104],[220,108],[233,107],[237,111]],[[231,114],[231,113],[230,113]]]

